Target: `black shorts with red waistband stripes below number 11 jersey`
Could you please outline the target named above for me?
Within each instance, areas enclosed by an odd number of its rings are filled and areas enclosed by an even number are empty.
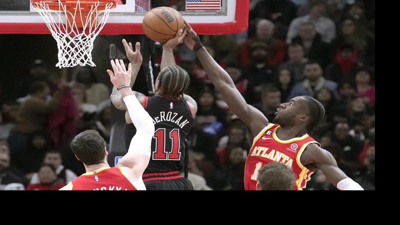
[[[178,190],[193,191],[192,182],[182,177],[179,171],[169,173],[151,173],[143,175],[144,185],[148,191]]]

